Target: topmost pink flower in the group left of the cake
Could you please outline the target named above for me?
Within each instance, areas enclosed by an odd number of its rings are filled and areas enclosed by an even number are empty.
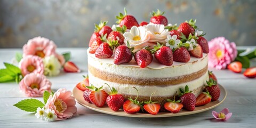
[[[29,39],[28,43],[23,46],[23,57],[26,57],[26,55],[37,55],[44,58],[52,54],[55,55],[56,47],[53,41],[38,36]]]

